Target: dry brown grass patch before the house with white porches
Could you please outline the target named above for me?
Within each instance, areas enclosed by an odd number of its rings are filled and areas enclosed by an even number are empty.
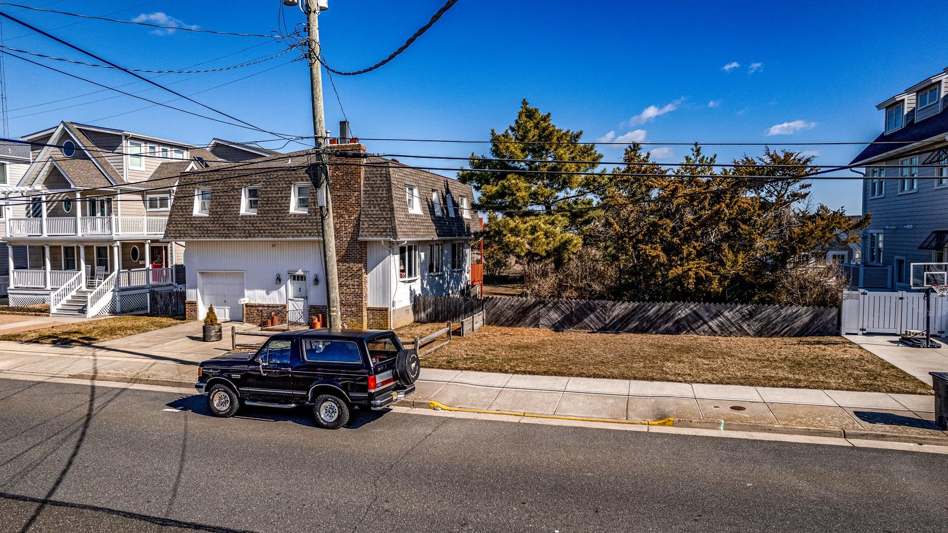
[[[105,340],[113,340],[137,333],[161,329],[179,323],[184,323],[184,321],[178,317],[132,315],[128,317],[100,319],[98,321],[73,322],[19,333],[10,333],[9,335],[0,336],[0,340],[87,346]]]

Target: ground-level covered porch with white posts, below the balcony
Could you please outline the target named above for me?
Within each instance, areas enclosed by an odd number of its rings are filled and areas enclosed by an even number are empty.
[[[8,243],[9,289],[53,291],[64,285],[117,290],[174,285],[175,247],[170,243],[115,241],[83,244]],[[17,262],[19,262],[17,264]]]

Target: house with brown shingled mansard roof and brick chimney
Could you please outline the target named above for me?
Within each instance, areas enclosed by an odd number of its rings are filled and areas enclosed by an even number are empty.
[[[339,315],[347,327],[411,322],[414,295],[470,283],[470,186],[382,157],[361,144],[332,145]],[[325,313],[319,198],[311,151],[182,174],[166,241],[188,248],[190,320],[257,323],[277,313],[307,323]]]

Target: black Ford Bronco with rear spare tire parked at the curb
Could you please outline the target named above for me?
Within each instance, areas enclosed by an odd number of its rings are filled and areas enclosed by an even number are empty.
[[[354,407],[385,409],[412,393],[420,373],[418,355],[391,331],[310,329],[203,361],[194,387],[215,416],[233,416],[242,405],[305,404],[319,427],[335,430]]]

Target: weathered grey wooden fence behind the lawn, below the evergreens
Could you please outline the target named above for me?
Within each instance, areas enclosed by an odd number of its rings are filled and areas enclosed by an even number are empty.
[[[506,327],[720,337],[809,337],[838,333],[835,307],[494,296],[415,296],[413,303],[417,322],[461,322],[482,310],[484,325]]]

